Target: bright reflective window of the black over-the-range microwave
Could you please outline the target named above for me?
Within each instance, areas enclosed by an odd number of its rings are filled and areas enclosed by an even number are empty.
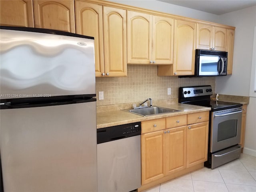
[[[216,56],[201,56],[202,72],[218,72],[218,60]]]

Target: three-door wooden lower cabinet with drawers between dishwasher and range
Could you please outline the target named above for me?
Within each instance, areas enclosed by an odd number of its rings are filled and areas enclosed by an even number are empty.
[[[205,162],[208,124],[208,111],[142,122],[142,187]]]

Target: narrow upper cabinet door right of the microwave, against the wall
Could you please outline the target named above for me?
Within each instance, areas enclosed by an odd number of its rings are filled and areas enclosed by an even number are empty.
[[[234,37],[235,37],[235,31],[228,29],[227,48],[226,48],[226,52],[228,52],[228,70],[227,70],[228,75],[232,74],[232,68],[233,68]]]

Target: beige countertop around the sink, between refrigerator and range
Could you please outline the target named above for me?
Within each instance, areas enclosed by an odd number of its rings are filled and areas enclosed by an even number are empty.
[[[97,129],[116,126],[116,125],[122,125],[122,124],[128,124],[133,122],[141,122],[145,120],[166,118],[170,116],[177,116],[177,115],[204,112],[204,111],[211,110],[211,108],[209,107],[202,107],[202,106],[195,106],[195,105],[181,104],[181,103],[158,104],[157,106],[180,110],[180,112],[158,114],[158,115],[152,115],[152,116],[146,116],[146,117],[132,114],[130,112],[126,112],[122,110],[108,110],[103,112],[97,112],[97,115],[96,115]]]

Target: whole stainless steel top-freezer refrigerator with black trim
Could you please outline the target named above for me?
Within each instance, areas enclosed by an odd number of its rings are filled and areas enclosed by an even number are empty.
[[[4,192],[96,192],[94,38],[0,29]]]

